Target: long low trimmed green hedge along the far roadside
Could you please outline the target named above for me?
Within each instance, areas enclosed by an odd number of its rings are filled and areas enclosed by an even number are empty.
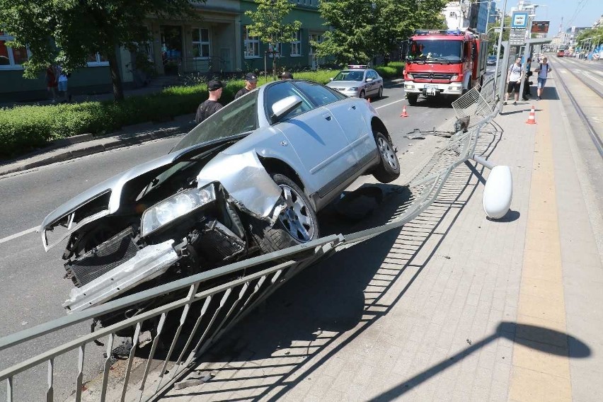
[[[401,63],[398,63],[401,64]],[[377,67],[384,77],[400,76],[401,67],[390,63]],[[392,70],[393,69],[393,70]],[[309,79],[326,84],[338,71],[321,70],[296,72],[296,79]],[[393,74],[393,75],[388,75]],[[272,81],[269,77],[268,81]],[[260,78],[260,85],[264,79]],[[221,103],[233,100],[244,81],[225,82]],[[122,102],[61,103],[58,105],[30,105],[0,108],[0,160],[10,159],[40,147],[54,139],[78,134],[103,135],[120,130],[122,126],[141,122],[172,120],[178,115],[195,113],[197,106],[207,99],[207,85],[175,86],[159,93],[132,96]]]

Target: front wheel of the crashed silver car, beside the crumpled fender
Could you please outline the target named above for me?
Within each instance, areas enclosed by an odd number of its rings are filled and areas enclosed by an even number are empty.
[[[260,249],[264,253],[271,253],[318,239],[318,219],[306,193],[293,180],[280,173],[273,174],[272,180],[282,189],[282,197],[287,205],[274,226],[265,226],[253,234]]]

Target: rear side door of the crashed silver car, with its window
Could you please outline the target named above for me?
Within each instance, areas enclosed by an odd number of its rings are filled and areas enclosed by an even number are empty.
[[[350,152],[354,154],[359,166],[372,159],[376,149],[370,122],[364,120],[362,110],[367,108],[366,101],[357,98],[342,98],[329,88],[321,85],[299,82],[304,92],[314,92],[315,102],[321,102],[323,108],[329,110],[341,127],[350,143]],[[352,173],[352,172],[350,172]]]

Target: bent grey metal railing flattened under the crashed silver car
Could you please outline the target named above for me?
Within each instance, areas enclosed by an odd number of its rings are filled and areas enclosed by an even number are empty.
[[[493,86],[493,82],[484,84],[483,90],[487,90],[490,85]],[[72,370],[73,378],[63,381],[71,384],[69,391],[73,391],[68,399],[149,401],[156,398],[183,378],[195,360],[207,352],[222,334],[297,272],[337,251],[399,228],[425,211],[437,198],[452,170],[471,158],[480,130],[498,113],[495,105],[488,103],[480,95],[478,88],[473,88],[465,96],[473,102],[470,103],[465,98],[461,103],[457,103],[457,107],[462,104],[466,110],[455,108],[455,111],[457,114],[469,115],[476,120],[476,124],[471,125],[466,132],[454,134],[447,147],[437,151],[415,174],[413,180],[408,183],[410,199],[401,206],[401,212],[386,224],[345,236],[326,236],[306,244],[201,272],[1,338],[0,352],[17,348],[29,341],[43,341],[45,335],[57,333],[64,328],[71,328],[112,311],[178,292],[178,297],[168,304],[112,326],[96,329],[3,369],[0,372],[0,381],[6,386],[6,400],[16,401],[18,376],[26,377],[23,382],[28,382],[29,379],[35,381],[33,377],[39,379],[40,371],[46,364],[45,398],[47,401],[54,401],[55,360],[74,351],[77,357],[73,364],[76,367]],[[484,115],[484,105],[488,105],[489,114]],[[220,280],[219,285],[216,285],[217,280]],[[142,334],[146,332],[145,323],[151,321],[156,324],[157,329],[151,336],[148,353],[143,353],[145,348],[141,344],[141,341],[144,341]],[[119,338],[117,333],[125,328],[134,328],[134,335],[132,344],[127,348],[129,350],[118,356],[123,360],[118,360],[115,352]],[[106,349],[102,375],[84,383],[86,345],[98,343],[99,340],[104,340]],[[168,340],[169,342],[166,342]],[[36,373],[32,374],[33,371]],[[67,395],[62,396],[62,399],[65,398]]]

